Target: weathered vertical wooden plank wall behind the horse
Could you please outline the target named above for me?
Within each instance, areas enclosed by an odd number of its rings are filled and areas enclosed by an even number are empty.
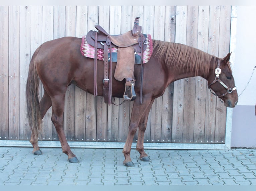
[[[30,59],[45,41],[82,37],[100,24],[110,34],[131,30],[224,57],[229,52],[230,6],[0,6],[0,140],[29,140],[25,86]],[[41,88],[40,95],[43,95]],[[115,104],[123,99],[115,99]],[[125,142],[133,102],[107,105],[71,85],[65,97],[69,141]],[[58,140],[51,109],[42,140]],[[176,81],[152,105],[145,142],[225,143],[226,108],[201,77]],[[137,134],[134,141],[137,139]]]

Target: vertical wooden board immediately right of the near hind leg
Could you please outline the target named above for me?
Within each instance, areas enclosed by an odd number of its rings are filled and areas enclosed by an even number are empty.
[[[76,6],[66,6],[65,36],[76,36]],[[65,95],[64,132],[67,140],[75,138],[75,85],[70,85]]]

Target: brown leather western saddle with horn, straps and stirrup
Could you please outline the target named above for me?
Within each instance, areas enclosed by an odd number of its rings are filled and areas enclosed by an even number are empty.
[[[89,31],[86,35],[87,42],[95,47],[94,53],[94,95],[97,95],[97,49],[104,49],[104,79],[103,96],[104,102],[112,103],[112,61],[117,62],[114,77],[122,81],[126,79],[124,100],[133,101],[136,98],[134,86],[134,64],[135,58],[139,58],[141,64],[141,86],[140,103],[142,103],[142,84],[143,84],[143,52],[146,49],[147,37],[142,34],[139,18],[136,17],[131,31],[120,35],[109,35],[100,25],[95,25],[97,31]],[[112,53],[112,48],[117,48],[117,54]],[[109,51],[110,49],[110,51]],[[117,57],[116,59],[114,57]],[[137,62],[139,62],[137,61]],[[109,70],[109,72],[108,72]]]

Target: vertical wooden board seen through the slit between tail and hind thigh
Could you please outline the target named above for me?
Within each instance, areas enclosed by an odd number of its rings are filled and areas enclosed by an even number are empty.
[[[42,10],[42,43],[53,40],[54,8],[53,6],[43,6]],[[42,87],[41,97],[44,89]],[[42,139],[52,140],[52,108],[50,108],[43,118]]]

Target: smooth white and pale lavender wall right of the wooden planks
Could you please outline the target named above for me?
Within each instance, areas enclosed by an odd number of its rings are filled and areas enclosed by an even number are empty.
[[[238,95],[256,66],[256,6],[232,6],[231,46],[233,75]],[[256,148],[256,69],[233,109],[231,147]]]

